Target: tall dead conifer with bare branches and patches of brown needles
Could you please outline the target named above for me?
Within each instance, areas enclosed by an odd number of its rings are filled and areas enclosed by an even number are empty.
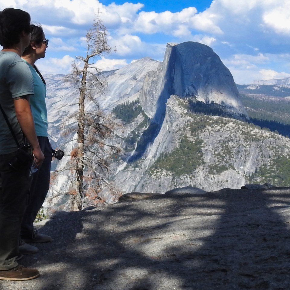
[[[98,196],[101,184],[109,185],[103,172],[109,168],[108,158],[118,152],[118,148],[108,142],[114,121],[100,110],[95,98],[96,95],[104,93],[107,82],[101,71],[91,62],[98,56],[111,53],[111,50],[116,51],[108,45],[107,29],[99,18],[99,12],[93,27],[86,34],[86,43],[86,56],[76,57],[77,62],[73,63],[72,73],[67,77],[79,85],[79,108],[75,115],[77,140],[76,147],[70,153],[70,170],[76,177],[70,190],[73,210],[81,210],[85,198],[95,203],[102,201]],[[94,110],[90,109],[92,107]]]

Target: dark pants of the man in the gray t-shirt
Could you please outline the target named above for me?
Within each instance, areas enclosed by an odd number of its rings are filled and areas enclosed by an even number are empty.
[[[0,270],[18,265],[18,242],[27,205],[30,164],[12,169],[8,162],[16,152],[0,155]]]

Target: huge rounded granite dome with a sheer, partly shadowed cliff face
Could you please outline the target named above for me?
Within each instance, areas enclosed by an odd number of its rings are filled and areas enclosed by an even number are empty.
[[[163,63],[145,78],[139,99],[154,122],[163,121],[170,95],[213,101],[236,118],[248,119],[230,71],[210,47],[198,42],[168,43]]]

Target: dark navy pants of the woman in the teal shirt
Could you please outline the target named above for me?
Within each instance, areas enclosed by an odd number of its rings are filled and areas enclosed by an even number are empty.
[[[29,204],[25,210],[21,224],[22,238],[32,237],[34,230],[33,222],[45,200],[50,184],[50,165],[52,159],[51,145],[48,137],[37,136],[37,139],[45,159],[37,172],[32,174]]]

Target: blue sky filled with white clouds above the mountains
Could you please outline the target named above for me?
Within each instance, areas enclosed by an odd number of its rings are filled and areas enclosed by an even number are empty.
[[[85,54],[85,34],[95,13],[108,29],[116,53],[95,60],[101,69],[120,68],[149,56],[163,60],[167,42],[210,46],[238,84],[290,77],[290,0],[14,0],[10,7],[31,14],[50,40],[43,73],[66,74]],[[7,1],[0,0],[0,9]]]

